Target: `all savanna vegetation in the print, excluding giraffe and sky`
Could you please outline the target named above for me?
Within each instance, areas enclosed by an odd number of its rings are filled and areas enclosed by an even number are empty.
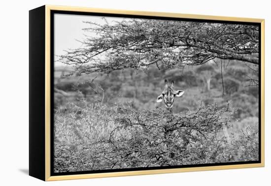
[[[90,24],[55,67],[55,172],[259,159],[257,27]],[[172,113],[164,79],[185,91]]]

